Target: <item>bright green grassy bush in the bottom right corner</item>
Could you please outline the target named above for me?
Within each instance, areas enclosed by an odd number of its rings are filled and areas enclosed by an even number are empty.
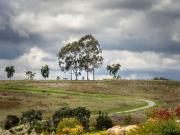
[[[175,120],[148,121],[128,135],[180,135],[180,127]]]

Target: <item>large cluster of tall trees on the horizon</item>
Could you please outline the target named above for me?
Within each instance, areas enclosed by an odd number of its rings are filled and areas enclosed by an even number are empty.
[[[87,73],[93,73],[95,79],[95,69],[103,64],[102,50],[98,40],[92,35],[85,35],[78,41],[73,41],[62,47],[58,53],[59,66],[61,71],[70,72],[71,80],[74,74],[76,80],[84,70]]]

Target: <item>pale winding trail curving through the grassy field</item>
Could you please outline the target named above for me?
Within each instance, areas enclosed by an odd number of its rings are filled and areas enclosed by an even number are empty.
[[[148,105],[143,106],[143,107],[138,107],[138,108],[135,108],[135,109],[126,110],[126,111],[109,113],[109,115],[136,112],[136,111],[140,111],[140,110],[144,110],[144,109],[151,108],[151,107],[153,107],[153,106],[156,105],[156,103],[153,102],[153,101],[151,101],[151,100],[147,100],[147,99],[137,99],[137,100],[146,102]],[[94,117],[94,116],[98,116],[98,115],[93,115],[93,117]]]

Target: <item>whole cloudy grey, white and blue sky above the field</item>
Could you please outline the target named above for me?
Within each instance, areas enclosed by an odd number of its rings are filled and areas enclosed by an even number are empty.
[[[120,63],[126,79],[180,79],[180,0],[0,0],[0,79],[14,65],[14,79],[51,68],[49,79],[69,77],[57,52],[85,34],[95,36],[107,64]]]

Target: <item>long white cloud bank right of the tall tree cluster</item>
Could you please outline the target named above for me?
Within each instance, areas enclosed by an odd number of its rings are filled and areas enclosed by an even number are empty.
[[[155,52],[104,51],[105,65],[120,63],[122,70],[165,71],[180,70],[180,55],[165,56]]]

